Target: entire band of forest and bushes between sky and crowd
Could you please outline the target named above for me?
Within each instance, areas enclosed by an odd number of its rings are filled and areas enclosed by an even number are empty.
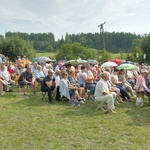
[[[5,38],[0,35],[0,53],[14,60],[18,55],[26,55],[28,58],[32,58],[36,50],[44,49],[50,52],[56,51],[56,59],[58,60],[64,57],[75,59],[80,56],[83,59],[94,58],[102,62],[110,60],[111,54],[114,52],[120,53],[122,59],[137,61],[136,53],[138,53],[139,60],[142,61],[143,54],[146,54],[146,61],[150,61],[150,35],[104,33],[104,38],[107,39],[106,49],[110,47],[107,51],[102,48],[103,44],[100,38],[102,37],[98,33],[77,35],[66,33],[65,38],[62,37],[61,40],[55,41],[52,33],[31,33],[29,35],[27,33],[7,32]],[[124,55],[124,53],[128,54]]]

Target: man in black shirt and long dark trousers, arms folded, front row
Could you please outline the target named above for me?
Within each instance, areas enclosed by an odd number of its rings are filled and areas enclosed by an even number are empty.
[[[53,104],[52,100],[52,91],[56,90],[57,84],[53,77],[54,71],[52,69],[48,70],[48,75],[44,77],[43,82],[41,84],[41,91],[48,92],[49,103]]]

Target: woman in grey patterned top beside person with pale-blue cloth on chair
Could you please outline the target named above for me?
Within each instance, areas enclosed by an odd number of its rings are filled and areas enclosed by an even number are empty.
[[[78,84],[77,78],[75,77],[75,70],[70,70],[68,80],[70,81],[70,84],[78,88],[77,90],[78,90],[79,96],[84,99],[85,90],[83,87],[80,87],[80,85]]]

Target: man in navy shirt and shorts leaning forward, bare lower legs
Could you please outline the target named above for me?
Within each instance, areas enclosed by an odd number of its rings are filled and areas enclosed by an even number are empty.
[[[36,82],[30,66],[27,67],[26,71],[22,72],[22,74],[18,79],[18,84],[20,86],[23,86],[23,92],[25,98],[28,98],[26,94],[27,85],[31,85],[33,87],[34,94],[36,95]]]

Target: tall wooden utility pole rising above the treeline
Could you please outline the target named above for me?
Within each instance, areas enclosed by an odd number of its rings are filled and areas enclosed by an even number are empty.
[[[103,48],[106,49],[106,45],[105,45],[105,39],[104,39],[104,24],[106,24],[106,22],[101,23],[100,25],[98,25],[98,27],[100,28],[100,37],[102,36],[103,39]],[[100,46],[101,46],[101,40],[99,40],[99,52],[98,52],[98,57],[100,55]]]

